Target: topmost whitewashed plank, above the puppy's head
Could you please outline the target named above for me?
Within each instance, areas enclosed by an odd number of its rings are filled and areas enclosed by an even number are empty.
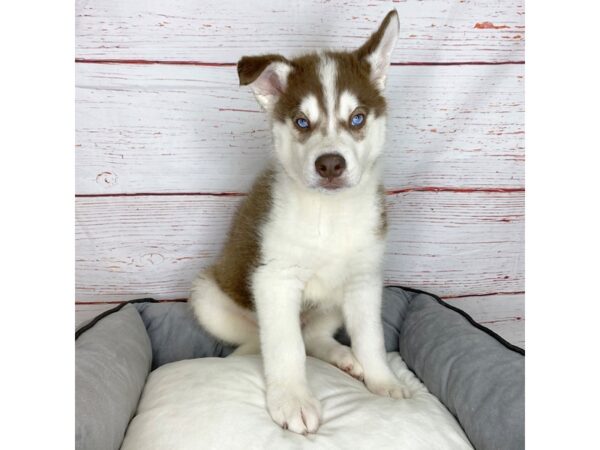
[[[522,0],[76,1],[79,58],[235,62],[242,55],[357,48],[396,8],[393,61],[524,58]]]

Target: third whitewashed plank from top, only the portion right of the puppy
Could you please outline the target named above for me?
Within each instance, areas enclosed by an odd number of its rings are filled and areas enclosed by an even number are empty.
[[[386,282],[440,296],[523,290],[523,192],[407,192],[388,206]]]

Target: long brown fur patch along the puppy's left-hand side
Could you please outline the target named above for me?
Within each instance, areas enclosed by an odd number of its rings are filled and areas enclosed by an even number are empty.
[[[221,257],[212,268],[214,278],[233,301],[254,309],[250,276],[260,261],[260,228],[271,210],[275,171],[265,170],[239,206]]]

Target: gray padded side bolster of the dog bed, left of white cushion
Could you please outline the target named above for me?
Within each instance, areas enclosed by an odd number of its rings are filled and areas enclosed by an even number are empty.
[[[76,448],[117,450],[150,371],[150,339],[133,305],[79,334],[75,341]]]

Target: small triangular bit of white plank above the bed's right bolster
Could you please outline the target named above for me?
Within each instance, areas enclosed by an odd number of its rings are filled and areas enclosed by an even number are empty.
[[[525,294],[447,299],[508,342],[525,347]]]

